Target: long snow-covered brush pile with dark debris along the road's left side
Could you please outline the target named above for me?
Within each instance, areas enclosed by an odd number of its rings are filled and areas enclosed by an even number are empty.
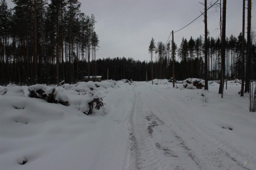
[[[73,107],[86,115],[96,113],[104,115],[104,97],[100,91],[114,88],[116,82],[113,80],[102,82],[78,82],[77,84],[63,84],[63,86],[46,86],[35,84],[32,86],[0,86],[1,96],[26,96],[43,99],[48,103],[62,104]],[[24,93],[24,91],[26,91]]]

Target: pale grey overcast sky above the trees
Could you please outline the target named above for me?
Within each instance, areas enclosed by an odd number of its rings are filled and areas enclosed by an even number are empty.
[[[7,0],[10,4],[11,0]],[[217,0],[207,0],[215,3]],[[204,0],[80,0],[81,12],[95,16],[99,36],[97,58],[131,57],[149,61],[149,42],[166,43],[170,32],[183,28],[204,12]],[[256,0],[252,0],[256,4]],[[246,1],[247,4],[247,1]],[[227,0],[226,36],[238,36],[242,31],[242,0]],[[219,36],[219,8],[208,10],[208,30]],[[202,15],[188,27],[174,34],[177,46],[181,39],[204,35]],[[247,24],[247,23],[246,23]],[[256,10],[252,7],[252,28],[256,31]]]

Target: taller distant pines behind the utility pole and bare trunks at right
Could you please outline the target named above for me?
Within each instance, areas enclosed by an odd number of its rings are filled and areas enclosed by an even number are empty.
[[[153,38],[152,38],[153,39]],[[207,67],[208,72],[207,75],[210,80],[219,79],[220,78],[220,71],[221,71],[221,41],[220,38],[213,38],[208,36],[207,38]],[[253,39],[255,41],[255,32],[253,31]],[[225,77],[226,78],[233,78],[236,77],[241,79],[242,77],[242,33],[239,34],[238,37],[231,35],[229,38],[226,37],[226,46],[225,46]],[[150,42],[150,46],[154,43],[153,41]],[[244,43],[247,44],[246,40]],[[166,77],[165,73],[167,71],[167,67],[170,66],[170,61],[172,61],[172,47],[170,47],[170,41],[167,42],[166,46],[162,41],[157,43],[155,46],[155,56],[156,61],[158,61],[162,66],[163,74],[160,75],[161,77]],[[149,47],[150,47],[149,46]],[[174,56],[175,61],[180,63],[181,72],[180,75],[183,75],[177,79],[185,79],[188,77],[197,77],[197,78],[204,78],[204,41],[202,36],[194,39],[191,38],[187,41],[186,38],[182,38],[180,47],[178,48],[176,43],[174,42]],[[255,57],[256,57],[256,44],[254,43],[251,46],[252,51],[252,60],[251,64],[251,79],[256,78],[255,72]],[[151,53],[149,49],[149,53]],[[158,55],[157,55],[158,54]],[[244,56],[246,61],[247,51],[244,50]],[[199,62],[200,61],[200,62]],[[169,64],[168,64],[169,63]],[[244,62],[246,63],[246,62]],[[246,67],[246,65],[245,65]],[[200,76],[199,76],[200,75]]]

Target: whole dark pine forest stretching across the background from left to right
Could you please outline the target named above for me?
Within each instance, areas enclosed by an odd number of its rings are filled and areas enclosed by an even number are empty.
[[[8,9],[0,2],[0,84],[74,83],[84,76],[102,79],[151,80],[151,61],[135,61],[133,56],[96,58],[99,36],[94,15],[80,12],[78,0],[13,0]],[[251,38],[251,79],[256,78],[255,35]],[[226,37],[225,78],[240,79],[242,33]],[[207,49],[208,79],[220,78],[221,39],[182,38],[177,46],[159,41],[153,54],[153,79],[170,79],[175,62],[175,79],[204,78]],[[254,43],[253,43],[254,42]],[[247,44],[246,40],[244,41]],[[247,46],[247,45],[246,45]],[[174,48],[172,50],[172,48]],[[246,48],[247,49],[247,48]],[[244,55],[246,59],[246,49]],[[175,61],[172,60],[174,53]],[[115,57],[115,58],[114,58]],[[150,58],[149,58],[150,59]],[[245,64],[246,66],[246,64]]]

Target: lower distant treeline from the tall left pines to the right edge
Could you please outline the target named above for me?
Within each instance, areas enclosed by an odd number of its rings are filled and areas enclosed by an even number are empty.
[[[245,41],[245,43],[247,43]],[[221,43],[220,38],[208,37],[208,77],[209,80],[220,79],[221,70]],[[251,79],[256,79],[256,46],[251,47]],[[234,77],[241,79],[242,72],[242,35],[238,37],[231,35],[226,37],[226,69],[227,79]],[[246,56],[246,51],[244,52]],[[172,78],[172,46],[171,42],[166,45],[159,41],[153,54],[153,79]],[[198,38],[182,38],[180,46],[174,43],[175,56],[175,79],[204,78],[204,41]],[[149,57],[150,59],[150,57]],[[103,58],[98,59],[97,75],[107,78],[109,68],[109,79],[132,79],[135,81],[151,80],[151,62],[138,61],[133,58]],[[246,62],[245,62],[246,63]]]

